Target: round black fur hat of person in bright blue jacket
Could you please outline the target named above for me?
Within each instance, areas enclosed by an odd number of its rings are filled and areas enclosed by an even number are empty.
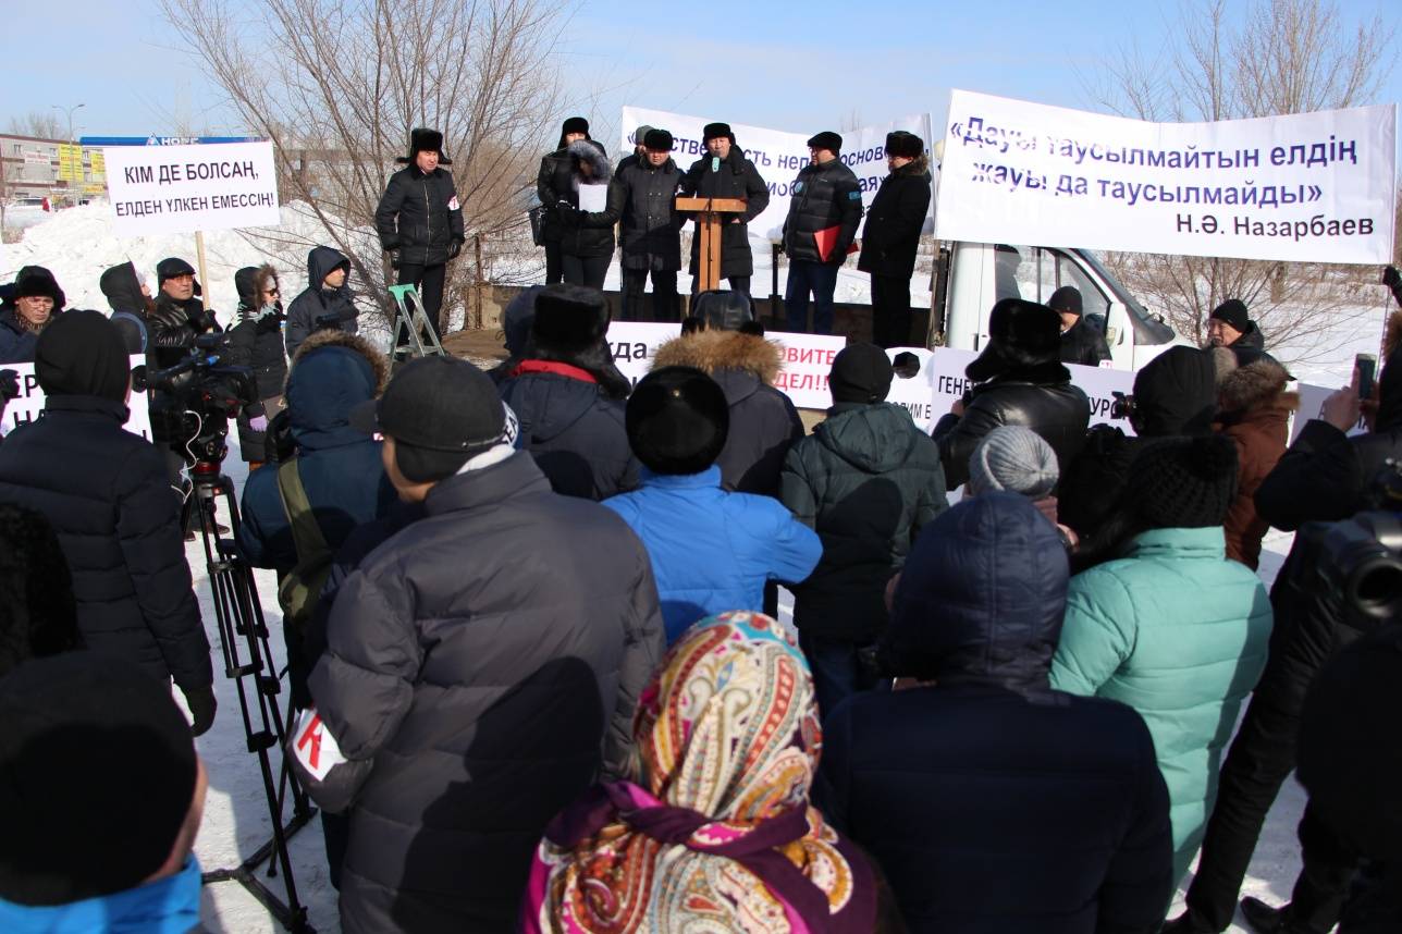
[[[655,474],[700,474],[715,463],[730,431],[721,386],[690,366],[648,373],[628,398],[628,445]]]

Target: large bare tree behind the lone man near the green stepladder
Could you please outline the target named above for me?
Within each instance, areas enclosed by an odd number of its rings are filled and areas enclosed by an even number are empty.
[[[526,192],[554,115],[552,50],[565,15],[548,0],[161,0],[167,20],[193,36],[229,104],[273,142],[283,201],[300,201],[314,236],[265,238],[285,255],[317,243],[350,258],[393,320],[393,272],[373,215],[409,129],[432,126],[453,157],[468,234],[449,266],[444,310],[465,293],[472,237],[530,251]],[[243,17],[255,17],[252,22]],[[512,251],[508,250],[508,254]],[[496,257],[530,271],[524,257]],[[300,258],[296,259],[300,264]]]

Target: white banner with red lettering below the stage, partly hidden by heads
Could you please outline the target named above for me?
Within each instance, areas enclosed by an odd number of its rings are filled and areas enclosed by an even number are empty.
[[[680,324],[614,321],[608,325],[608,349],[613,351],[618,370],[637,384],[652,369],[658,346],[680,334]],[[831,405],[827,374],[833,369],[833,358],[847,346],[847,338],[782,331],[767,337],[784,352],[784,369],[774,379],[774,388],[787,394],[799,408]]]

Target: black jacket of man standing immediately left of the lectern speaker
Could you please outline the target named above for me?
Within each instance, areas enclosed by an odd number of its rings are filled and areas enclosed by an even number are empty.
[[[681,224],[677,213],[677,188],[681,168],[667,158],[653,165],[634,158],[614,174],[610,201],[617,201],[622,222],[621,247],[624,269],[674,272],[681,268]]]

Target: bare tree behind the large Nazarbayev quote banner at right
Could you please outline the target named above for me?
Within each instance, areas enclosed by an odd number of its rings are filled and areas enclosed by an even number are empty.
[[[1370,104],[1395,62],[1394,29],[1381,17],[1346,24],[1328,0],[1255,0],[1232,21],[1225,0],[1182,7],[1158,55],[1122,49],[1089,93],[1147,121],[1218,121]],[[1088,83],[1089,84],[1089,83]],[[1109,254],[1108,265],[1185,335],[1202,339],[1207,316],[1228,297],[1246,302],[1272,345],[1295,360],[1343,339],[1330,327],[1360,302],[1374,272],[1356,266],[1202,257]]]

